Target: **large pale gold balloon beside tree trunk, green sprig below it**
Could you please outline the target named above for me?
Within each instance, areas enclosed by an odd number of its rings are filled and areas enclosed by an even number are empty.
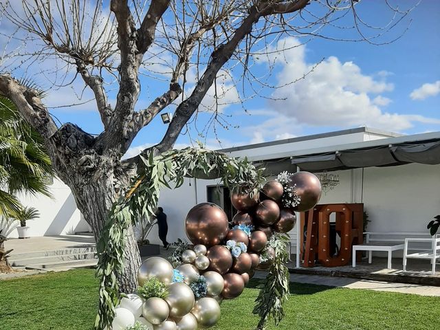
[[[173,266],[159,256],[152,256],[140,265],[137,272],[137,283],[144,285],[149,278],[155,277],[162,283],[171,283],[173,280]]]

